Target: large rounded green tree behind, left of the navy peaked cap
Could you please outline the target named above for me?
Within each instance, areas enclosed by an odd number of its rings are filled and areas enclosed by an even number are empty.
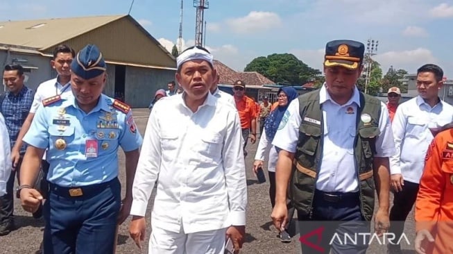
[[[244,71],[257,71],[275,83],[303,85],[321,74],[289,53],[273,53],[260,56],[249,62]]]

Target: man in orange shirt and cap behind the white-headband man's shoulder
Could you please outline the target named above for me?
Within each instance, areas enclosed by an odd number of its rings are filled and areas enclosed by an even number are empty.
[[[246,145],[248,137],[250,136],[250,142],[252,144],[255,144],[257,141],[257,107],[255,101],[245,95],[246,83],[243,81],[234,82],[233,92],[234,102],[236,103],[237,112],[239,112],[239,118],[241,119],[243,155],[247,156]]]

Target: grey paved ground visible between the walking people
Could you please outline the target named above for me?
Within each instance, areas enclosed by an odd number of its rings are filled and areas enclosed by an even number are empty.
[[[148,110],[134,110],[135,121],[139,127],[140,132],[144,133],[146,127],[146,121],[148,119]],[[248,157],[246,158],[247,167],[247,183],[248,183],[248,211],[247,211],[247,235],[246,243],[243,245],[241,253],[252,253],[252,254],[282,254],[282,253],[300,253],[300,244],[298,242],[298,236],[293,237],[293,242],[290,244],[282,244],[277,239],[277,231],[273,228],[271,223],[271,204],[268,200],[268,183],[257,184],[257,180],[251,172],[253,157],[256,150],[255,145],[248,146]],[[119,152],[121,169],[124,165],[123,153]],[[121,170],[120,173],[121,182],[124,183],[124,172]],[[151,214],[152,201],[148,208],[147,215]],[[35,220],[22,210],[19,205],[19,201],[15,202],[15,214],[16,214],[16,225],[17,230],[10,233],[10,235],[0,237],[0,253],[1,254],[13,254],[13,253],[35,253],[39,248],[40,241],[42,239],[43,222],[42,220]],[[409,241],[413,242],[414,228],[413,228],[413,214],[409,215],[409,221],[406,223],[406,234]],[[150,228],[150,219],[147,218],[148,228]],[[128,219],[119,229],[118,247],[117,253],[140,253],[138,248],[135,246],[132,239],[129,237],[128,225],[130,219]],[[147,235],[149,231],[147,232]],[[146,246],[147,249],[147,241]],[[412,244],[413,245],[413,244]],[[402,244],[405,249],[404,253],[414,253],[412,246]],[[379,246],[374,243],[368,249],[368,253],[385,253],[386,248]],[[144,252],[146,253],[146,252]],[[100,253],[103,254],[103,253]],[[200,253],[202,254],[202,253]]]

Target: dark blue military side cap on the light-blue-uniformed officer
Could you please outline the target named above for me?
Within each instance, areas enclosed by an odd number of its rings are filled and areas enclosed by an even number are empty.
[[[76,59],[71,62],[71,71],[80,78],[90,79],[105,72],[104,58],[96,45],[88,44],[78,51]]]

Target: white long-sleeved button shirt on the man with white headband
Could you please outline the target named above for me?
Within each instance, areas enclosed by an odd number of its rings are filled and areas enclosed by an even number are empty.
[[[185,233],[246,223],[247,186],[241,123],[212,94],[196,112],[185,93],[156,103],[148,119],[133,183],[130,214],[144,216],[155,185],[151,223]]]

